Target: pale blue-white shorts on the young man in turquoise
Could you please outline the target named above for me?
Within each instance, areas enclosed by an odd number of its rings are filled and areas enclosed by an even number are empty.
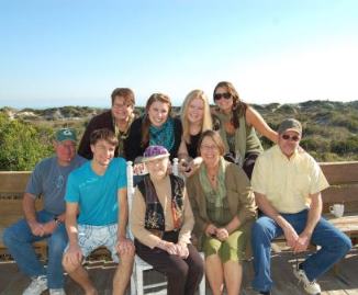
[[[105,247],[111,251],[112,260],[119,262],[116,251],[118,224],[105,226],[78,225],[78,246],[87,258],[99,247]],[[67,251],[68,246],[65,251]]]

